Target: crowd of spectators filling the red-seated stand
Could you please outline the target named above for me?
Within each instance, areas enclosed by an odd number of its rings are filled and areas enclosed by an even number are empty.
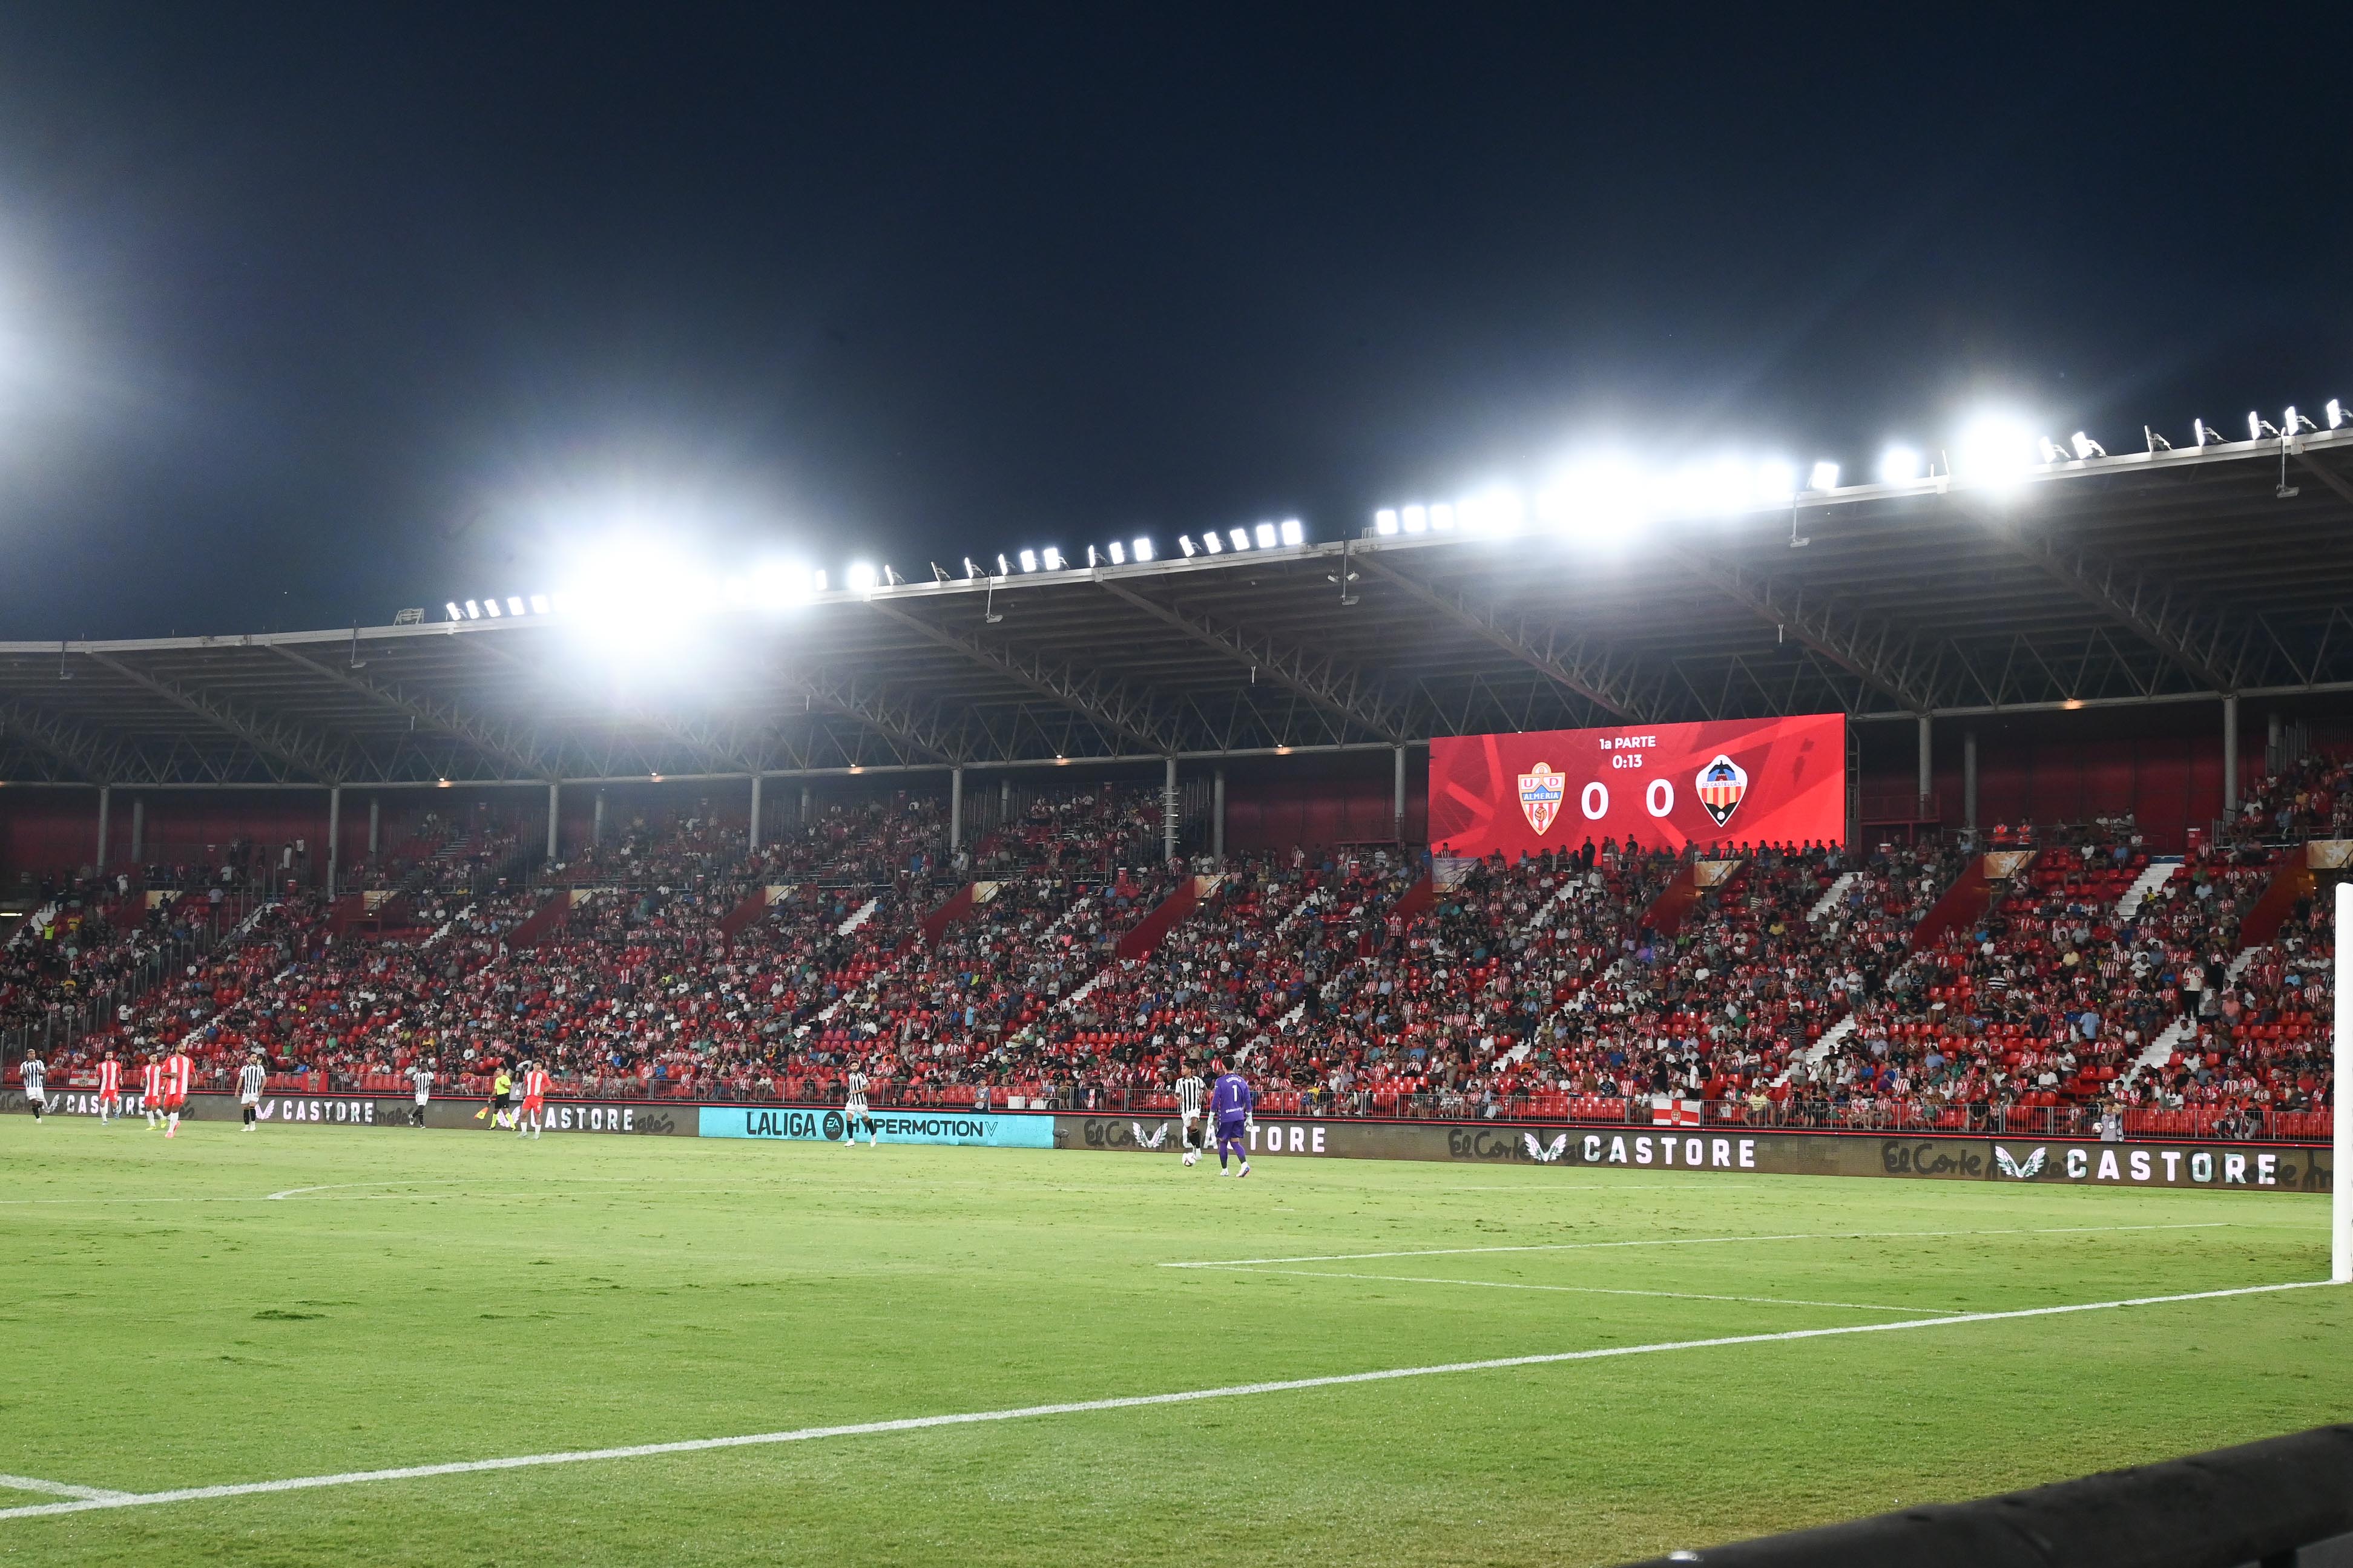
[[[433,1060],[464,1091],[529,1058],[584,1093],[793,1100],[859,1070],[885,1103],[1158,1110],[1224,1058],[1271,1107],[1320,1114],[1701,1100],[1769,1124],[2052,1131],[2108,1112],[2249,1131],[2332,1100],[2327,929],[2306,900],[2240,943],[2280,875],[2259,856],[2155,879],[2122,835],[2045,846],[1958,907],[1974,856],[1948,844],[1160,863],[1155,811],[1108,790],[1031,802],[1035,835],[984,835],[974,860],[1052,865],[979,882],[941,863],[932,802],[875,797],[758,851],[708,816],[633,820],[544,886],[419,891],[391,936],[292,896],[56,1065],[186,1044],[209,1079],[259,1048],[278,1074],[384,1091]],[[1186,879],[1198,907],[1120,957]],[[184,907],[47,910],[0,952],[0,1027],[61,997],[125,1001],[122,976],[202,910]]]

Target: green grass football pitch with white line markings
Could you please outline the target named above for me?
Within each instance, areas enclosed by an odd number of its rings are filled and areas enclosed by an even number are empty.
[[[2320,1279],[2304,1197],[24,1117],[0,1173],[9,1563],[1612,1563],[2353,1415],[2346,1291],[2035,1312]]]

